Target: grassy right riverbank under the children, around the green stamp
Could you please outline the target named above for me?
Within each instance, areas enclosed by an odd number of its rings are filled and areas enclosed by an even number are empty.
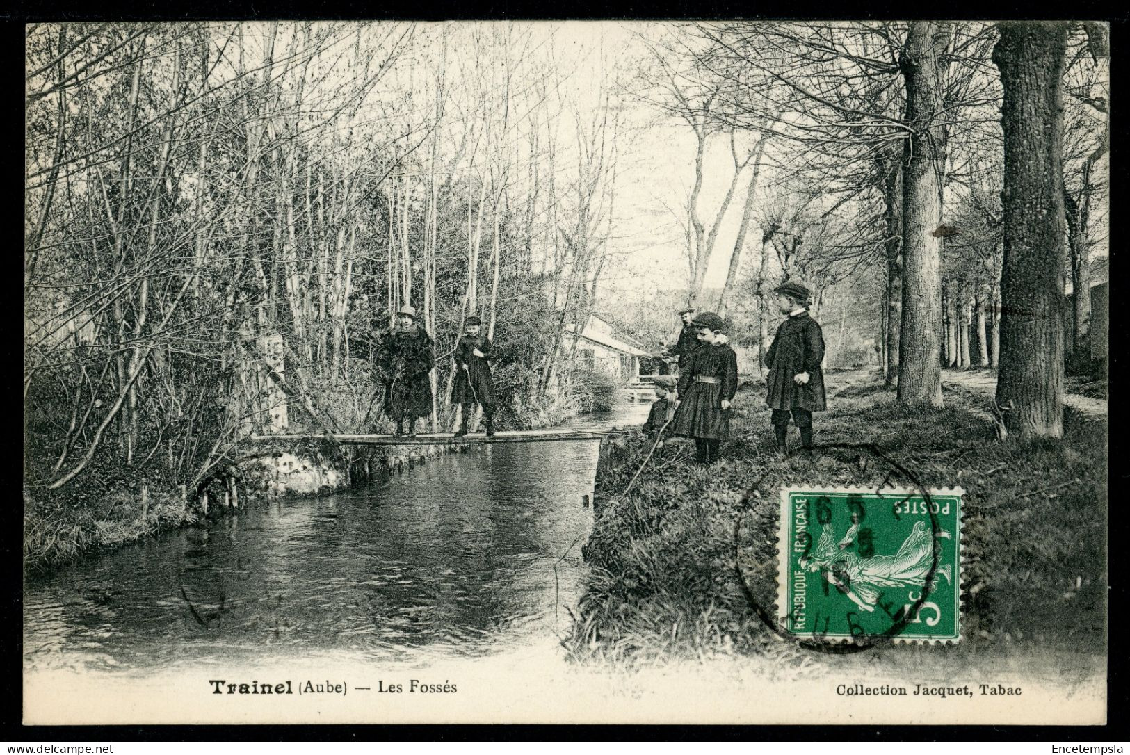
[[[574,658],[627,665],[716,652],[797,658],[741,590],[736,526],[746,522],[744,544],[772,549],[782,485],[881,483],[889,469],[880,460],[835,448],[859,443],[873,443],[925,485],[966,491],[963,640],[947,653],[1023,652],[1019,645],[1104,652],[1105,422],[1068,409],[1063,440],[1000,443],[981,396],[947,388],[946,408],[907,409],[875,374],[827,378],[829,410],[816,415],[811,457],[772,451],[764,385],[754,383],[739,391],[732,440],[710,469],[694,465],[693,444],[672,441],[655,450],[625,495],[651,444],[619,453],[598,480],[584,548],[592,578],[566,642]],[[774,576],[751,585],[770,602]]]

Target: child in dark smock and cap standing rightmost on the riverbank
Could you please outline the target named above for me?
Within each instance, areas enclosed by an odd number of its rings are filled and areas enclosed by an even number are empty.
[[[800,431],[806,452],[812,448],[812,413],[824,411],[824,333],[808,314],[808,289],[798,283],[785,283],[773,289],[777,307],[789,316],[777,328],[773,345],[765,353],[770,367],[768,394],[765,402],[773,410],[773,433],[776,448],[784,451],[789,434],[789,416]]]

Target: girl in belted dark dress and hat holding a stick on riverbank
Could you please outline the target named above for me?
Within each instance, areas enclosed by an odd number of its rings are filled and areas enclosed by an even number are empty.
[[[718,459],[719,445],[730,436],[730,402],[738,392],[738,355],[722,333],[722,318],[703,312],[694,320],[701,345],[690,353],[679,375],[671,434],[695,439],[698,463]]]

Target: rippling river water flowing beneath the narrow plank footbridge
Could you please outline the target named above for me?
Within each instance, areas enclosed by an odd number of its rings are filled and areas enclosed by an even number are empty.
[[[565,426],[638,426],[647,408]],[[425,666],[562,637],[586,573],[581,497],[597,453],[594,441],[487,444],[29,578],[25,666],[146,672],[295,656]]]

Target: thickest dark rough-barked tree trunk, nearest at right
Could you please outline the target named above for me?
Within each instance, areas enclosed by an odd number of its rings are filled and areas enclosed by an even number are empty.
[[[1005,266],[997,403],[1007,432],[1063,435],[1062,72],[1067,24],[1001,23]]]

